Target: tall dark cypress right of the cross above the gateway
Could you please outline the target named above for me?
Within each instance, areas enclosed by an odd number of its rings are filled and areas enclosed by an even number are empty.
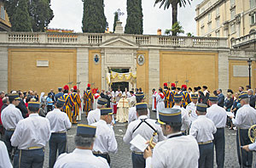
[[[142,0],[127,0],[126,34],[143,34]]]

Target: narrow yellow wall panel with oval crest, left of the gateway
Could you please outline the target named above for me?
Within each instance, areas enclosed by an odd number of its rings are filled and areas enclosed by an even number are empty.
[[[93,61],[94,54],[100,55],[100,61],[98,64],[95,64]],[[91,88],[98,88],[102,90],[102,55],[101,50],[89,50],[89,83]]]

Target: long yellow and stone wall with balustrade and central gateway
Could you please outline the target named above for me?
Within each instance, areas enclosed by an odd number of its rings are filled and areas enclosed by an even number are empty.
[[[84,91],[87,83],[108,90],[128,82],[129,90],[142,87],[151,104],[152,89],[164,82],[236,91],[248,85],[249,58],[256,87],[255,53],[230,49],[226,38],[0,32],[0,90],[56,92],[78,85]]]

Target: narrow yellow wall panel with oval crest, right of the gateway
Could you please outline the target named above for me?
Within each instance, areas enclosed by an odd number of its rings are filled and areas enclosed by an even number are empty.
[[[148,51],[137,51],[137,57],[140,54],[144,55],[144,64],[137,64],[137,88],[142,87],[148,102]]]

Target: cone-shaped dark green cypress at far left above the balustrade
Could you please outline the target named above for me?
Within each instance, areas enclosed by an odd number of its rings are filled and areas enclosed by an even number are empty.
[[[31,17],[27,9],[28,0],[20,0],[12,14],[12,31],[32,31]]]

